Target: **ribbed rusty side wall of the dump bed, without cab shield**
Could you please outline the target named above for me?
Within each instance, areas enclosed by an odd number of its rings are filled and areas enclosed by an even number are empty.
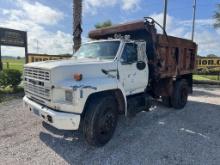
[[[186,39],[157,35],[160,78],[190,74],[195,69],[197,45]]]

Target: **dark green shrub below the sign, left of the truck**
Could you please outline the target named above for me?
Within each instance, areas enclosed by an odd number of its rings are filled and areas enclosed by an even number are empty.
[[[0,86],[3,88],[10,86],[15,89],[21,80],[21,72],[18,70],[7,69],[0,72]]]

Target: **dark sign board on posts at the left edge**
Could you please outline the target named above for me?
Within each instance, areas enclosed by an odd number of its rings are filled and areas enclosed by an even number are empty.
[[[24,47],[25,48],[25,62],[28,61],[28,40],[27,32],[0,28],[0,70],[3,69],[1,46],[13,46],[13,47]]]

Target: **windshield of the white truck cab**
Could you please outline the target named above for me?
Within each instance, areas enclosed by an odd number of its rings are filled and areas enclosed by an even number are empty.
[[[120,41],[104,41],[84,44],[74,54],[76,58],[114,59]]]

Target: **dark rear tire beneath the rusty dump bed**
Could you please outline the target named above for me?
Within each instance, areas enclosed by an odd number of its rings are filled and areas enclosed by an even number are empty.
[[[185,80],[177,81],[171,96],[171,104],[175,109],[185,107],[188,100],[188,84]]]

